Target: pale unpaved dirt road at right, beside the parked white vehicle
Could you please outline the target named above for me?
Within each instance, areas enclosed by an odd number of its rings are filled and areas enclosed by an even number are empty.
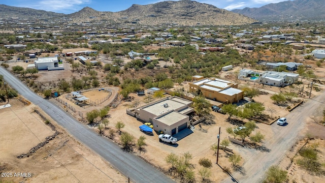
[[[243,164],[244,173],[235,172],[233,176],[238,182],[262,182],[265,178],[265,172],[271,165],[277,165],[298,139],[303,138],[301,130],[306,128],[310,116],[314,116],[317,111],[322,110],[325,105],[325,91],[314,99],[305,100],[305,102],[291,111],[287,116],[288,124],[278,126],[272,125],[273,139],[265,142],[269,151],[257,151],[255,149],[243,148],[245,157],[250,157]],[[234,182],[231,178],[223,182]]]

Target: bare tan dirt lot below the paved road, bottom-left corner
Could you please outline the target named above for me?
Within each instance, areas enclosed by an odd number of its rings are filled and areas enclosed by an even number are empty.
[[[30,148],[54,134],[34,111],[35,105],[10,100],[12,107],[0,110],[0,172],[12,173],[1,177],[8,182],[126,182],[111,165],[76,141],[49,116],[47,119],[60,132],[53,140],[29,157],[18,159]],[[3,104],[2,104],[3,105]],[[38,109],[41,113],[42,110]],[[10,120],[9,120],[10,119]],[[24,177],[15,173],[26,173]],[[30,173],[28,175],[28,173]],[[2,174],[3,175],[3,174]]]

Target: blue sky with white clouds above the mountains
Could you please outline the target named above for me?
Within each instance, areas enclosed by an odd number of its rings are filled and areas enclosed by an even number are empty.
[[[1,0],[0,4],[70,14],[84,7],[90,7],[97,11],[117,12],[126,10],[133,4],[147,5],[163,1],[164,0]],[[217,8],[226,10],[243,9],[245,7],[259,8],[270,3],[279,3],[283,1],[285,0],[197,0],[199,3],[214,5]]]

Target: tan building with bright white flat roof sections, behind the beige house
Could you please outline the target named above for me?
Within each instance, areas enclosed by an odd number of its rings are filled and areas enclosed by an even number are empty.
[[[244,98],[244,92],[238,89],[238,83],[218,78],[200,78],[195,76],[193,82],[189,83],[189,92],[196,93],[200,89],[202,96],[222,103],[238,102]]]

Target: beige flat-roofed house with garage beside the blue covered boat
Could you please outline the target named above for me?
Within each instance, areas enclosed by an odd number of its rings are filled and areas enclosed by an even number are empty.
[[[155,131],[174,135],[189,126],[189,114],[194,111],[192,101],[169,97],[135,109],[136,117],[153,124]]]

